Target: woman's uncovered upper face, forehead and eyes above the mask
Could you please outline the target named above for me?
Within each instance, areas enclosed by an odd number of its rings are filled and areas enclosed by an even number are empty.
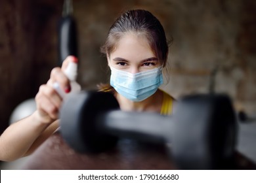
[[[108,65],[135,74],[160,67],[161,63],[143,36],[127,33],[108,58]]]

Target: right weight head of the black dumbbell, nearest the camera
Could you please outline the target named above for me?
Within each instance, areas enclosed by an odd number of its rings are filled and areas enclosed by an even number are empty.
[[[228,169],[237,137],[236,115],[227,95],[181,99],[173,115],[171,154],[181,169]]]

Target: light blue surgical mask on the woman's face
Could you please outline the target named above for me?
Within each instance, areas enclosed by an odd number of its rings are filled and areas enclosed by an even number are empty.
[[[110,85],[131,101],[143,101],[163,84],[162,67],[132,74],[110,67]]]

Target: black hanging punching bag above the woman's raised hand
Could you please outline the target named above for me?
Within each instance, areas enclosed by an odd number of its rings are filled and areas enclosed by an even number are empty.
[[[67,56],[77,57],[77,29],[72,13],[72,1],[64,0],[62,18],[58,22],[59,65],[62,65]]]

